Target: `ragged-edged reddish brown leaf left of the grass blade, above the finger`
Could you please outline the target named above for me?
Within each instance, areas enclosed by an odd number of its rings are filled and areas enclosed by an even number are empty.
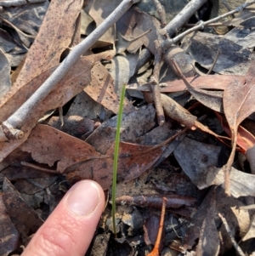
[[[99,157],[99,153],[88,143],[42,124],[33,128],[21,150],[31,152],[35,161],[50,167],[58,162],[57,171],[60,173],[77,162]]]

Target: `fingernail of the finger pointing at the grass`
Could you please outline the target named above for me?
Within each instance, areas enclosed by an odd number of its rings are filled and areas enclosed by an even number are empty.
[[[99,190],[92,181],[84,180],[71,187],[66,200],[67,208],[79,216],[94,212],[99,205]]]

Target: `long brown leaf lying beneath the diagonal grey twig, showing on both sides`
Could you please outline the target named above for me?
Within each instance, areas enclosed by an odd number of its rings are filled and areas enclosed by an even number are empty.
[[[24,131],[25,136],[22,139],[14,139],[12,143],[7,141],[1,141],[0,147],[2,151],[0,152],[0,159],[3,160],[5,156],[26,141],[27,137],[31,132],[37,121],[43,116],[46,111],[55,109],[59,106],[64,105],[67,101],[71,100],[72,97],[77,95],[82,91],[82,89],[88,85],[90,82],[90,69],[97,61],[104,58],[105,54],[94,54],[92,56],[81,57],[77,61],[76,65],[71,68],[65,77],[58,83],[57,87],[48,94],[46,99],[38,102],[38,105],[33,110],[33,114],[28,117],[27,122],[24,127],[21,127]],[[84,68],[85,66],[85,68]],[[20,88],[18,92],[13,92],[10,90],[7,97],[0,100],[0,122],[3,122],[10,115],[16,111],[23,104],[23,102],[31,95],[31,87],[38,88],[42,82],[44,82],[48,76],[56,68],[53,67],[47,71],[42,72],[38,77],[35,77],[28,82],[25,86]],[[22,92],[22,93],[21,93]]]

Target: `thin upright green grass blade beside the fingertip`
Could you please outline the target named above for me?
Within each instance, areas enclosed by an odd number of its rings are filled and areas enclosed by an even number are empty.
[[[112,223],[113,223],[113,232],[116,236],[116,220],[115,220],[115,213],[116,213],[116,175],[117,175],[117,168],[118,168],[118,159],[119,159],[119,146],[120,146],[120,137],[121,137],[121,128],[122,128],[122,112],[123,112],[123,105],[125,99],[125,92],[126,87],[123,85],[122,87],[122,95],[121,95],[121,102],[120,102],[120,109],[117,117],[117,125],[116,125],[116,139],[115,139],[115,147],[114,147],[114,159],[113,159],[113,174],[112,174],[112,189],[111,189],[111,202],[112,202]]]

